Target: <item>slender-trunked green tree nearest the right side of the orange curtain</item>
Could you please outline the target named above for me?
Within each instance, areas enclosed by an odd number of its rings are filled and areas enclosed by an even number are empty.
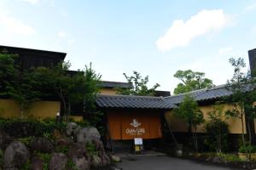
[[[174,115],[186,122],[189,133],[192,133],[195,151],[198,151],[197,126],[204,122],[204,116],[195,99],[185,95],[180,105],[174,109]]]

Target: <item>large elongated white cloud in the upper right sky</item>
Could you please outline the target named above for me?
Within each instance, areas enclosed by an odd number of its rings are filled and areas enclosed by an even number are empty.
[[[228,18],[223,9],[212,9],[201,10],[187,21],[174,20],[166,34],[156,41],[156,45],[161,51],[187,46],[193,38],[226,26]]]

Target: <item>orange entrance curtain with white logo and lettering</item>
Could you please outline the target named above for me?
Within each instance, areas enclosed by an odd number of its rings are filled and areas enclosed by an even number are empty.
[[[108,112],[111,139],[161,138],[160,114]]]

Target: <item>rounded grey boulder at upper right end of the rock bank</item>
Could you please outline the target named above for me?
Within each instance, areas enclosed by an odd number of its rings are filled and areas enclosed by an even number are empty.
[[[78,143],[88,143],[92,142],[93,140],[100,140],[101,134],[96,129],[96,127],[83,127],[77,133],[77,142]]]

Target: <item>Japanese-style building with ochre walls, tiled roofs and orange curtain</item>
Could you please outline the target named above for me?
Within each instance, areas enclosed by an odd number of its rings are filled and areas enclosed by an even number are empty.
[[[59,52],[0,46],[0,50],[3,48],[7,49],[9,53],[20,55],[19,62],[22,68],[56,65],[63,61],[66,56],[65,53]],[[253,71],[256,68],[256,49],[250,50],[248,53]],[[182,143],[188,134],[186,124],[173,116],[173,109],[182,102],[185,94],[171,95],[170,92],[157,91],[154,97],[117,95],[116,88],[131,88],[127,82],[102,81],[101,87],[101,94],[96,99],[96,105],[107,117],[108,139],[161,139],[165,133],[168,134],[166,125],[171,127],[179,143]],[[217,86],[187,94],[195,98],[205,119],[207,119],[207,113],[212,111],[215,102],[230,96],[232,93],[225,86]],[[223,105],[225,111],[232,109],[232,105]],[[0,99],[0,108],[3,117],[20,115],[19,107],[11,99]],[[61,112],[61,101],[56,99],[38,101],[30,112],[32,116],[36,117],[55,117],[57,112]],[[76,120],[83,119],[83,112],[75,111],[73,118]],[[247,127],[246,124],[241,125],[238,118],[230,118],[227,123],[230,128],[230,136],[233,139],[241,134],[241,126],[244,126],[245,129]],[[255,127],[255,122],[253,122],[251,127],[253,139],[255,139]],[[198,127],[198,133],[205,133],[203,125]]]

